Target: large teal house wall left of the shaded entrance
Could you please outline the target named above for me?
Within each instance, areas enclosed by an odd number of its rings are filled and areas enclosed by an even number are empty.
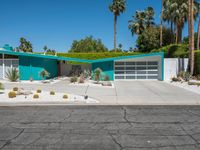
[[[57,60],[19,56],[19,74],[20,80],[42,80],[39,73],[46,69],[50,73],[49,78],[58,76]]]

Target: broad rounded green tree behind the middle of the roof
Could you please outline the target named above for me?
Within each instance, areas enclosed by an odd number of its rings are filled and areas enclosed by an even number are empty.
[[[70,53],[90,53],[90,52],[107,52],[108,49],[100,39],[94,39],[92,36],[86,37],[72,43]]]

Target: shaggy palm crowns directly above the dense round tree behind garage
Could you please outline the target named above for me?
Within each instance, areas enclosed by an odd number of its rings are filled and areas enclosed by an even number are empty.
[[[132,35],[142,34],[146,28],[153,26],[154,23],[154,9],[152,7],[147,7],[143,11],[136,11],[133,19],[129,21],[129,29]]]

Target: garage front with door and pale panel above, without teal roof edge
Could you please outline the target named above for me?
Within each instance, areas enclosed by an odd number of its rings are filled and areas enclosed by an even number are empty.
[[[162,58],[145,56],[114,61],[115,80],[161,80]]]

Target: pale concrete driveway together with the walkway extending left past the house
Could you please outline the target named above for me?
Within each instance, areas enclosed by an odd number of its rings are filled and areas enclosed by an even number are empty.
[[[69,85],[69,81],[56,84],[6,84],[24,89],[87,95],[100,101],[100,105],[200,105],[200,95],[161,81],[118,81],[115,88]]]

